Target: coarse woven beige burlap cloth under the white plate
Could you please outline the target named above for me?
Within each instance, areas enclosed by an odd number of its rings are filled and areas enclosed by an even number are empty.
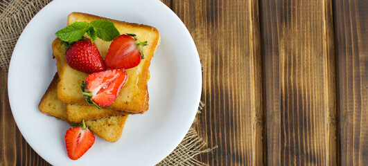
[[[0,0],[0,67],[6,73],[8,73],[12,50],[17,44],[19,35],[21,35],[28,21],[51,1]],[[199,110],[203,106],[204,104],[201,103]],[[191,127],[179,146],[157,165],[206,165],[195,160],[195,156],[209,151],[211,149],[207,148],[206,143]]]

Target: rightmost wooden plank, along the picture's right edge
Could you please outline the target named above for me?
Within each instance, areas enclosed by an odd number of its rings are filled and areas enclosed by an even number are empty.
[[[368,1],[335,1],[341,165],[368,165]]]

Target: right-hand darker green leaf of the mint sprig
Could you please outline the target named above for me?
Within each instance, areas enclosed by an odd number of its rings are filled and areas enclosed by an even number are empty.
[[[89,25],[94,27],[97,37],[103,39],[103,41],[112,41],[120,35],[112,21],[99,19],[96,21],[91,21]]]

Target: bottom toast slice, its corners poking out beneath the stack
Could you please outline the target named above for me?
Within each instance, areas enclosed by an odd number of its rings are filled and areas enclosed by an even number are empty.
[[[54,116],[58,119],[65,120],[71,124],[65,113],[64,103],[60,102],[57,97],[57,88],[60,79],[58,74],[55,74],[53,81],[49,85],[46,93],[42,97],[38,108],[42,113],[46,113],[49,116]],[[91,106],[90,106],[91,107]],[[110,116],[106,118],[100,118],[98,120],[87,120],[86,125],[91,127],[94,133],[104,140],[115,142],[119,140],[123,133],[123,127],[128,116]]]

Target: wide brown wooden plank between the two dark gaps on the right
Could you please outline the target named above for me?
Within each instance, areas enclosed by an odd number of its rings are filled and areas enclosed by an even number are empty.
[[[332,2],[261,1],[268,165],[337,165]]]

